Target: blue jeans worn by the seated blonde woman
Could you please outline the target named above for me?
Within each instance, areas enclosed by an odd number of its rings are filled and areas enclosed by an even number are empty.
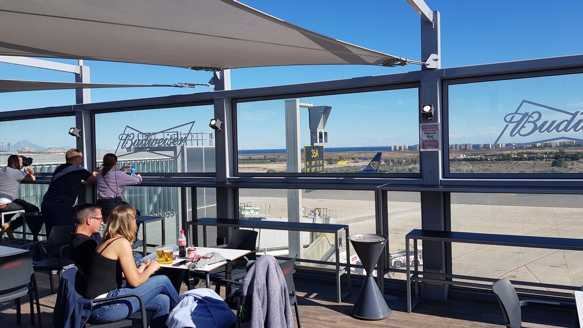
[[[120,289],[113,289],[107,296],[119,296],[138,294],[146,310],[152,312],[150,327],[166,327],[168,314],[177,305],[180,297],[175,291],[170,280],[165,275],[156,275],[148,278],[138,287],[132,288],[122,285]],[[90,323],[111,323],[128,316],[139,310],[139,302],[135,297],[116,299],[114,301],[101,302],[93,305],[89,316]]]

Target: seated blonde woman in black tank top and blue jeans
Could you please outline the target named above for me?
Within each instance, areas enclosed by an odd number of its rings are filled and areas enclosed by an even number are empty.
[[[168,314],[178,303],[178,293],[165,275],[150,277],[160,268],[157,261],[148,260],[136,267],[132,243],[137,229],[136,210],[133,207],[121,205],[111,211],[103,242],[93,253],[85,298],[138,294],[146,310],[153,312],[150,326],[166,327]],[[122,281],[122,275],[125,281]],[[89,322],[115,322],[138,309],[138,299],[131,297],[98,303],[93,306]]]

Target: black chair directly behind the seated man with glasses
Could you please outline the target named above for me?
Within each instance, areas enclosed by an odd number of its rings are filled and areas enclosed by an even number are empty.
[[[51,234],[47,240],[48,258],[34,262],[34,271],[48,271],[48,281],[51,284],[51,293],[55,292],[55,285],[52,281],[52,271],[58,271],[59,277],[63,267],[73,264],[69,259],[69,244],[75,231],[74,225],[58,225],[52,227]],[[30,245],[30,244],[29,244]]]

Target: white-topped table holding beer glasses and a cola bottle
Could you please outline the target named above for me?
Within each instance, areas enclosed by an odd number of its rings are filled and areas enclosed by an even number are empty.
[[[241,249],[228,249],[228,248],[216,248],[216,247],[187,247],[186,240],[182,239],[184,232],[181,231],[181,237],[178,239],[178,256],[175,256],[175,249],[171,246],[157,246],[156,247],[156,257],[157,261],[161,267],[166,268],[177,268],[182,270],[189,270],[192,261],[199,259],[200,256],[204,256],[210,252],[219,253],[226,261],[220,261],[217,263],[207,264],[195,268],[194,271],[199,271],[205,274],[206,278],[206,288],[210,288],[210,273],[211,271],[226,266],[229,261],[234,261],[241,259],[242,257],[250,254],[250,250]],[[229,267],[227,266],[227,275]]]

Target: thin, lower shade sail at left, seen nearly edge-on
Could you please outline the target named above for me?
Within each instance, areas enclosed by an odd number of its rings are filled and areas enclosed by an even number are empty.
[[[143,86],[176,86],[166,84],[107,84],[107,83],[76,83],[76,82],[44,82],[0,79],[0,92],[89,89],[89,88],[133,88]]]

